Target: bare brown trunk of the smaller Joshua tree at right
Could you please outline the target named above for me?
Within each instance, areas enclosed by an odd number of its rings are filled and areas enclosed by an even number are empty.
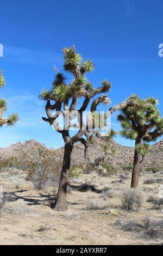
[[[141,143],[141,139],[136,140],[135,147],[139,143]],[[133,188],[138,187],[138,184],[139,184],[140,161],[141,161],[141,155],[135,149],[133,174],[132,174],[132,180],[131,180],[131,187]]]

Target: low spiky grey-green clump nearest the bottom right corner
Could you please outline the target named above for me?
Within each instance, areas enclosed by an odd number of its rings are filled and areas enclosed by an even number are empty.
[[[121,225],[124,231],[136,232],[143,239],[162,239],[163,221],[152,221],[148,216],[141,222],[127,222]]]

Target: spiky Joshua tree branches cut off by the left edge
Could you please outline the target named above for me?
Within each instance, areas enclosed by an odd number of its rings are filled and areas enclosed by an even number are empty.
[[[3,72],[0,70],[0,87],[4,87],[5,80],[3,76]],[[8,118],[3,118],[3,112],[7,111],[7,102],[5,99],[0,99],[0,126],[2,127],[4,124],[7,126],[14,126],[16,121],[18,120],[17,114],[9,114]]]

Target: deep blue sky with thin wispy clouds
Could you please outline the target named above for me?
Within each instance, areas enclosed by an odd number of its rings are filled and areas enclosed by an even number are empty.
[[[1,97],[8,101],[6,115],[20,116],[13,129],[1,130],[1,147],[33,138],[48,147],[63,145],[59,133],[42,121],[45,103],[38,95],[51,87],[53,64],[62,68],[61,48],[72,44],[95,62],[89,76],[95,87],[103,78],[112,83],[111,105],[133,93],[158,96],[163,114],[162,0],[5,0],[0,8],[0,68],[7,81]],[[120,129],[115,115],[112,127]],[[134,145],[119,136],[116,141]]]

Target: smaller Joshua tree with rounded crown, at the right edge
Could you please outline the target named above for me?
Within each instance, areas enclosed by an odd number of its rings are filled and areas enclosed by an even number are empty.
[[[139,183],[140,163],[147,155],[150,145],[163,134],[163,119],[156,105],[158,100],[148,97],[143,100],[137,95],[131,95],[131,106],[124,107],[117,116],[123,128],[120,134],[127,139],[135,140],[135,154],[131,187]]]

